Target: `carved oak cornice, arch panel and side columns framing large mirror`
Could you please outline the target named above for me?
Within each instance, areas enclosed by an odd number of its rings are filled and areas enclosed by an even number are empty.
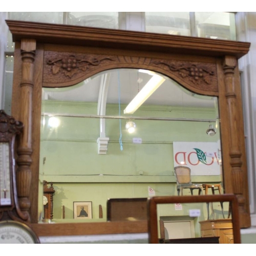
[[[20,208],[37,223],[42,87],[66,87],[98,72],[140,68],[198,94],[219,98],[225,193],[238,195],[241,227],[250,226],[238,59],[247,42],[7,20],[15,41],[12,116],[24,123],[18,145]],[[65,69],[62,59],[76,63]],[[200,70],[200,76],[190,72]]]

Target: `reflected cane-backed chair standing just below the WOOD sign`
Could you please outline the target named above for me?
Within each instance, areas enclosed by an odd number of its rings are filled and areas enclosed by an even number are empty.
[[[178,196],[183,196],[183,189],[190,189],[191,195],[193,195],[193,190],[198,189],[198,195],[203,195],[203,185],[191,183],[191,169],[186,166],[176,166],[174,167],[174,174],[177,181],[177,192]]]

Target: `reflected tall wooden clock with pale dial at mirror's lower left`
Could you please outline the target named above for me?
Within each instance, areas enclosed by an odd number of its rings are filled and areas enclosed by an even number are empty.
[[[52,219],[53,218],[53,194],[55,190],[53,188],[53,184],[44,180],[44,219]],[[65,213],[64,213],[65,218]],[[64,219],[63,218],[63,219]]]

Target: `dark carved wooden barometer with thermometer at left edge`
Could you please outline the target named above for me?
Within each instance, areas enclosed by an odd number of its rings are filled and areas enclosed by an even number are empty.
[[[0,244],[39,243],[17,197],[14,143],[22,131],[22,122],[0,110]]]

